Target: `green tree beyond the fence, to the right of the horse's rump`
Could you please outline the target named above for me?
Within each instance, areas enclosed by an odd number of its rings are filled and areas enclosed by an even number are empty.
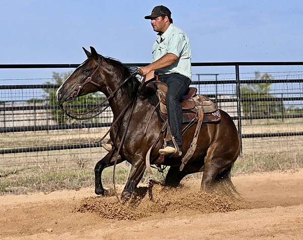
[[[255,72],[255,80],[271,80],[273,76]],[[245,116],[270,116],[279,115],[284,111],[283,101],[271,101],[275,95],[270,94],[271,83],[249,83],[241,86],[242,108]],[[268,98],[268,101],[264,99]],[[251,101],[263,99],[261,101]]]

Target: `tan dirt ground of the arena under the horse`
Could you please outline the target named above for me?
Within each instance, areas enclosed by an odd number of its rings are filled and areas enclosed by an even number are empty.
[[[115,204],[115,197],[95,198],[92,188],[0,196],[0,238],[303,239],[303,169],[232,180],[245,202],[199,195],[199,180],[172,193],[158,186],[153,204],[145,196],[145,208],[134,212]],[[136,220],[118,220],[117,212]]]

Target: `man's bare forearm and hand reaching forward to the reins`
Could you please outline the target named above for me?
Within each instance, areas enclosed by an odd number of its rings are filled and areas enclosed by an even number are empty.
[[[166,68],[172,64],[174,64],[178,60],[178,57],[174,54],[166,54],[157,61],[145,66],[139,68],[138,74],[140,75],[146,75],[150,73],[151,71],[158,70],[160,68]],[[147,79],[147,77],[146,77]]]

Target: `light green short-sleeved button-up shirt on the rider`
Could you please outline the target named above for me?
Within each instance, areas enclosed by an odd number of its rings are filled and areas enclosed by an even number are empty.
[[[174,54],[178,60],[169,67],[158,69],[159,75],[180,73],[191,80],[191,52],[187,35],[179,28],[170,24],[153,46],[153,62],[166,54]]]

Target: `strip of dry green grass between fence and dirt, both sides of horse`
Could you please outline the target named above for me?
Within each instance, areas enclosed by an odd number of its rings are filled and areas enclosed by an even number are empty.
[[[276,153],[276,154],[256,154],[243,155],[235,162],[232,175],[285,171],[289,169],[303,168],[303,153]],[[116,168],[116,184],[125,184],[128,178],[130,165],[122,163]],[[154,175],[150,176],[146,172],[142,177],[142,182],[147,182],[153,178],[157,181],[164,181],[165,173],[159,173],[153,169]],[[79,189],[94,185],[94,171],[92,166],[78,170],[66,171],[44,171],[41,169],[30,169],[29,171],[15,171],[3,174],[0,177],[0,195],[2,194],[26,194],[43,191],[48,193],[60,189]],[[201,173],[191,174],[187,178],[201,178]],[[113,167],[103,171],[103,184],[105,187],[113,184]]]

